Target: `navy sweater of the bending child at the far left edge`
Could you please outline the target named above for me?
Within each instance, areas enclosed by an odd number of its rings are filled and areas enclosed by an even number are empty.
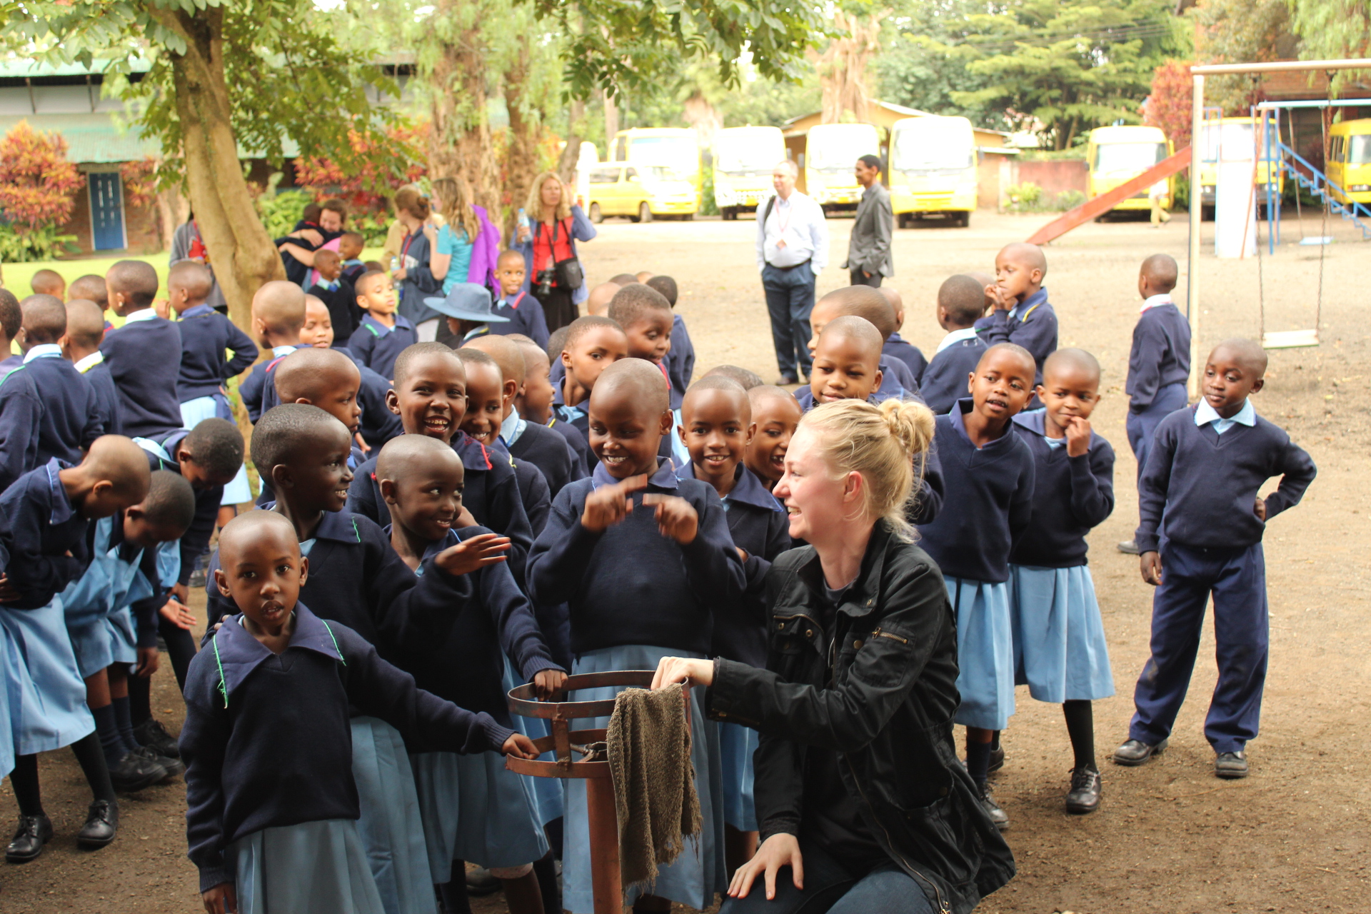
[[[90,565],[86,547],[90,522],[77,512],[58,478],[58,470],[69,466],[52,458],[0,495],[0,559],[4,560],[0,570],[19,591],[19,599],[7,607],[47,606]]]

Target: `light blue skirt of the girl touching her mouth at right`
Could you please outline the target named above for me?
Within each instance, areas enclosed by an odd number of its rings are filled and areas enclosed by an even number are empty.
[[[1009,566],[1015,684],[1039,702],[1093,702],[1113,695],[1109,647],[1090,567]]]

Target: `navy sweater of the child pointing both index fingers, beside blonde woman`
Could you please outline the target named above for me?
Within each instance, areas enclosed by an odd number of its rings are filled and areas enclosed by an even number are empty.
[[[622,522],[600,533],[583,528],[585,496],[613,482],[596,466],[557,496],[529,555],[533,600],[570,607],[574,654],[653,644],[707,655],[713,611],[738,611],[744,585],[718,495],[706,482],[677,480],[669,460],[653,474],[647,492],[677,495],[699,515],[695,539],[680,545],[658,532],[643,492],[633,493],[636,507]]]

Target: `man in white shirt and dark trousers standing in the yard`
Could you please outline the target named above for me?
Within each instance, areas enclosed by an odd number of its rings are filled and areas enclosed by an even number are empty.
[[[757,207],[757,271],[771,312],[777,384],[798,384],[809,375],[809,312],[814,308],[814,281],[828,264],[824,210],[795,189],[798,177],[794,162],[776,163],[776,196]]]

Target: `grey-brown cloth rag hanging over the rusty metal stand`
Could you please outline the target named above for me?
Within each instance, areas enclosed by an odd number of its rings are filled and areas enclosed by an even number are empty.
[[[680,682],[657,691],[624,689],[614,699],[606,743],[625,891],[655,882],[658,865],[680,856],[684,839],[701,830],[688,700]]]

